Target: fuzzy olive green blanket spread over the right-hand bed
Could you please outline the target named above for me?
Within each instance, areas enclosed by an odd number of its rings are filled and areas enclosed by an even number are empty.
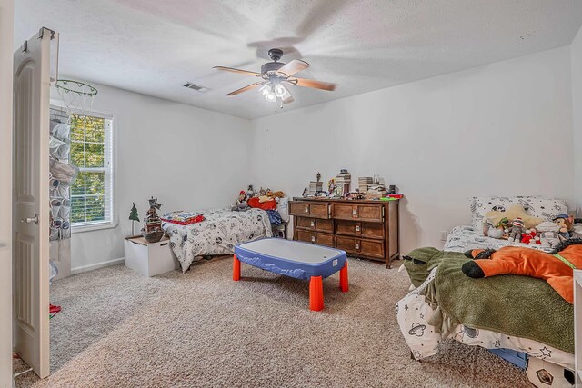
[[[420,248],[408,256],[426,262],[406,261],[415,285],[438,266],[425,296],[438,305],[429,323],[444,335],[462,323],[574,353],[574,308],[545,281],[511,274],[473,279],[461,271],[469,259],[457,252]]]

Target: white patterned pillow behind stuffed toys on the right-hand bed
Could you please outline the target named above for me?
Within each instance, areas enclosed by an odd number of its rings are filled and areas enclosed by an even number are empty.
[[[512,204],[521,204],[527,214],[551,221],[558,214],[567,214],[567,204],[561,199],[541,196],[486,196],[473,197],[471,201],[471,225],[477,234],[483,235],[485,214],[492,210],[504,211]]]

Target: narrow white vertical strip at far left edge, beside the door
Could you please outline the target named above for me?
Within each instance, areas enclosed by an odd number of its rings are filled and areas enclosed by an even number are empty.
[[[0,0],[0,387],[12,386],[12,66],[14,1]]]

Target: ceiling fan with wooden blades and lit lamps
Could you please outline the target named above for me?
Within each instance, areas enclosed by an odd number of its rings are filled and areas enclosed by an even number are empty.
[[[294,77],[293,75],[309,67],[309,64],[305,61],[294,59],[288,64],[279,62],[279,59],[283,56],[283,51],[278,48],[270,49],[269,56],[273,62],[268,62],[265,65],[262,65],[261,73],[249,72],[247,70],[235,69],[233,67],[214,66],[217,70],[224,70],[226,72],[242,75],[252,75],[261,78],[261,81],[241,87],[234,92],[230,92],[228,95],[240,95],[243,92],[260,87],[259,90],[263,93],[263,96],[265,96],[266,101],[276,103],[277,100],[280,100],[281,104],[289,104],[293,102],[293,95],[289,93],[287,89],[288,85],[312,87],[328,91],[336,89],[336,84]]]

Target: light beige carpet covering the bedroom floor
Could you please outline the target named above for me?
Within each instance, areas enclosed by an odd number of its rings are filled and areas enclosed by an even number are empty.
[[[53,374],[35,387],[530,387],[525,373],[456,342],[412,361],[394,313],[406,273],[349,261],[349,293],[324,281],[326,308],[308,309],[307,282],[231,259],[186,274],[141,277],[125,266],[56,281]],[[18,365],[22,367],[22,365]]]

